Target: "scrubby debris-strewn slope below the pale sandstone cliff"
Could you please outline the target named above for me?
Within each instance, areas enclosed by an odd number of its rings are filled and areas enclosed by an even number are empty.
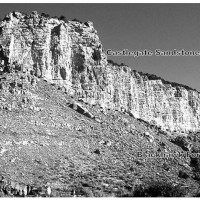
[[[189,157],[140,157],[183,151],[164,132],[125,113],[78,102],[64,87],[37,78],[31,85],[20,77],[24,73],[5,73],[1,80],[1,103],[8,104],[0,111],[0,174],[8,186],[30,185],[29,196],[45,196],[47,183],[52,196],[133,196],[137,187],[163,181],[175,187],[175,196],[198,193]]]

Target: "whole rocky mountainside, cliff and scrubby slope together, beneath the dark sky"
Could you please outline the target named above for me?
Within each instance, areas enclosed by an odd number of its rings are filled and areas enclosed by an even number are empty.
[[[113,61],[92,19],[60,14],[0,22],[0,196],[199,197],[197,89]]]

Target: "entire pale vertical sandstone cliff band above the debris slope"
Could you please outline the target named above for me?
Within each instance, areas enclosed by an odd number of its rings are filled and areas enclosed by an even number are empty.
[[[171,131],[200,129],[200,94],[107,62],[92,22],[9,13],[0,23],[2,68],[20,66],[78,99]]]

